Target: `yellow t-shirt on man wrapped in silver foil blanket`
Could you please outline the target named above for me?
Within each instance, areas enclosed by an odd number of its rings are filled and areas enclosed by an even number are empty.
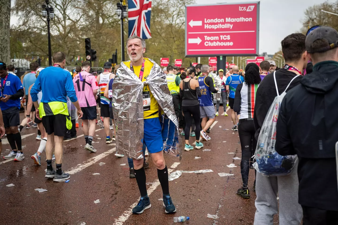
[[[148,60],[148,58],[144,58],[144,72],[143,72],[143,78],[142,82],[146,81],[146,78],[148,77],[151,67],[154,65],[152,62]],[[123,62],[128,68],[130,68],[130,61]],[[140,66],[133,66],[134,73],[136,76],[140,76],[141,72]],[[150,119],[150,118],[156,118],[159,117],[159,105],[155,99],[155,97],[152,95],[149,85],[146,85],[143,87],[143,118],[144,119]]]

